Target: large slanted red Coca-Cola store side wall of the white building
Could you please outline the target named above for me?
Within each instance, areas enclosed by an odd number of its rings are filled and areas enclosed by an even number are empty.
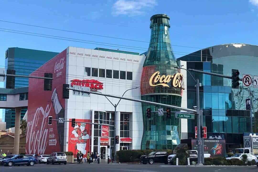
[[[30,76],[44,77],[52,73],[52,91],[44,91],[44,79],[29,78],[28,116],[27,116],[27,154],[50,154],[63,151],[64,123],[48,118],[64,118],[65,99],[62,98],[62,86],[66,83],[66,50],[46,62]]]

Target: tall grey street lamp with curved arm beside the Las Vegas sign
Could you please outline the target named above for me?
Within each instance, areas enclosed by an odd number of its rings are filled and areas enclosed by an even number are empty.
[[[184,68],[179,68],[179,67],[175,67],[177,69],[184,69]],[[201,113],[201,117],[200,117],[200,93],[199,93],[199,79],[195,79],[192,74],[187,70],[186,70],[191,77],[193,78],[193,80],[196,82],[196,108],[197,108],[197,150],[198,150],[198,164],[200,165],[201,163],[204,163],[204,155],[203,155],[203,138],[201,139],[201,131],[200,131],[200,122],[203,124],[203,115]],[[200,121],[201,118],[201,121]],[[201,140],[201,144],[199,144],[199,141]]]

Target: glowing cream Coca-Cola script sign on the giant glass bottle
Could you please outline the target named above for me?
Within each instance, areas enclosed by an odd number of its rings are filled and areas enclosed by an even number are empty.
[[[183,75],[181,73],[176,73],[174,75],[159,75],[160,72],[157,71],[153,73],[150,77],[149,84],[150,86],[163,86],[163,87],[170,87],[168,83],[171,83],[171,86],[175,88],[183,88],[184,87],[184,81],[183,81]]]

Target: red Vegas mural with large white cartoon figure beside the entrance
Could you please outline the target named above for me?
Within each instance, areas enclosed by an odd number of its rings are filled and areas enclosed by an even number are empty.
[[[75,119],[75,121],[79,121],[75,123],[75,127],[69,125],[68,151],[73,152],[75,155],[81,151],[85,156],[90,151],[90,124],[80,122],[90,122],[90,120]]]

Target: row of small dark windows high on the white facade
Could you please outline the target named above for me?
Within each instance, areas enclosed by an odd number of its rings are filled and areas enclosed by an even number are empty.
[[[133,80],[133,72],[127,71],[85,67],[84,72],[87,76]]]

